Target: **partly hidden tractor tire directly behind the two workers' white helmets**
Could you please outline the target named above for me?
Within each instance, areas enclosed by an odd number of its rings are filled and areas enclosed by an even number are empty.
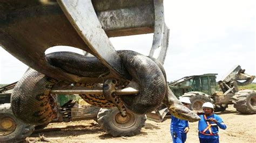
[[[190,98],[190,109],[191,110],[196,110],[196,111],[202,111],[202,105],[205,102],[211,102],[213,103],[213,99],[211,97],[203,92],[198,92],[198,91],[192,91],[192,92],[187,92],[181,97],[188,97]]]

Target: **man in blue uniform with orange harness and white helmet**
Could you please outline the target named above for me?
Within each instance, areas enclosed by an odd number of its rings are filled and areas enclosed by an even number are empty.
[[[219,142],[219,128],[225,130],[227,127],[223,120],[213,113],[213,104],[206,102],[203,104],[204,114],[199,115],[201,118],[198,122],[199,141],[200,143],[217,143]]]

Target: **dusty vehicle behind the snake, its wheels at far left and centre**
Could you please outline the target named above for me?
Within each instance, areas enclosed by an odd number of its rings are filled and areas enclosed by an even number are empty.
[[[32,134],[34,130],[42,129],[48,125],[35,126],[25,124],[13,115],[10,97],[11,90],[16,83],[17,82],[0,88],[0,139],[2,140],[23,139]],[[69,95],[57,96],[69,97]],[[85,107],[80,106],[77,101],[72,100],[72,95],[70,96],[70,98],[66,98],[70,99],[69,101],[56,98],[58,104],[64,102],[65,104],[59,104],[59,112],[57,117],[52,120],[53,123],[93,119],[99,123],[106,133],[114,137],[137,134],[145,125],[146,115],[135,115],[129,111],[127,112],[128,117],[124,120],[124,118],[120,116],[117,108],[103,109],[89,104],[87,104],[89,106]]]

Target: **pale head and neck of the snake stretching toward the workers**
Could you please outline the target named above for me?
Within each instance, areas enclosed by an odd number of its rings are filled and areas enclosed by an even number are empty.
[[[169,108],[172,116],[182,119],[188,120],[191,122],[200,120],[200,117],[196,112],[191,111],[186,108],[173,94],[170,88],[167,88],[166,96],[164,99],[164,104]]]

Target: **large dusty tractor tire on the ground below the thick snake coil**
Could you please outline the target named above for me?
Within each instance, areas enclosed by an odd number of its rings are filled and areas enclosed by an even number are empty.
[[[145,126],[146,115],[136,115],[127,110],[127,117],[123,118],[117,108],[100,109],[98,123],[107,134],[113,137],[125,137],[138,134]]]

